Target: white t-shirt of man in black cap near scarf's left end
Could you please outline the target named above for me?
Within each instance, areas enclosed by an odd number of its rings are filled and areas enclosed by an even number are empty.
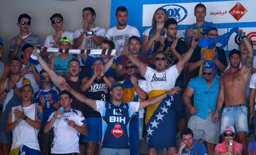
[[[26,68],[26,66],[27,66],[27,65],[23,65],[23,64],[22,64],[22,68],[23,68],[23,69]],[[38,71],[38,76],[39,76],[39,72],[42,71],[43,68],[41,67],[40,64],[35,65],[35,68],[36,68],[36,70]],[[26,71],[26,73],[25,73],[25,75],[24,75],[24,78],[27,78],[27,79],[30,80],[31,86],[32,86],[33,89],[34,89],[34,93],[40,90],[40,89],[39,89],[39,84],[36,83],[36,79],[35,79],[35,77],[34,77],[34,75],[33,75],[33,70],[32,70],[32,67],[31,67],[31,66],[29,66],[29,69],[27,69],[27,71]]]

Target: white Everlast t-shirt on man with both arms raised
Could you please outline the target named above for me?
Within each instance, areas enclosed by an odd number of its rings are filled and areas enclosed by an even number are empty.
[[[179,76],[176,65],[171,66],[164,72],[157,72],[155,69],[146,66],[145,77],[148,85],[148,93],[151,90],[170,90],[175,86],[176,79]]]

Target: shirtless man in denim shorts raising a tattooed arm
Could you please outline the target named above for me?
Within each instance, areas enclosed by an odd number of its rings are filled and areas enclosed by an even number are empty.
[[[246,132],[248,132],[247,107],[245,100],[245,90],[249,79],[251,67],[253,66],[253,47],[247,40],[244,32],[241,32],[241,38],[244,40],[248,55],[241,69],[239,69],[241,54],[238,50],[232,50],[229,53],[230,72],[220,78],[220,90],[217,99],[216,111],[212,118],[218,120],[218,111],[220,111],[223,102],[225,106],[221,118],[221,131],[226,125],[236,126],[237,136],[243,145],[243,155],[247,155],[247,143],[245,141]],[[239,117],[238,117],[239,116]]]

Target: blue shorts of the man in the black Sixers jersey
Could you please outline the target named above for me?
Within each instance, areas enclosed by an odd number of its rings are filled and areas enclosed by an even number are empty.
[[[100,117],[86,118],[88,129],[87,136],[83,135],[84,142],[101,142],[102,140],[102,120]]]

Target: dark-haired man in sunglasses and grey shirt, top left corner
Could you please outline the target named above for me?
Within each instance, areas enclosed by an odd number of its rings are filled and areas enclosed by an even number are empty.
[[[29,27],[31,24],[31,17],[26,13],[21,14],[18,18],[18,27],[20,27],[20,34],[16,37],[12,38],[10,44],[10,53],[9,60],[11,61],[13,58],[18,57],[23,59],[21,55],[21,48],[24,44],[31,44],[33,47],[40,46],[40,39],[37,34],[29,32]]]

